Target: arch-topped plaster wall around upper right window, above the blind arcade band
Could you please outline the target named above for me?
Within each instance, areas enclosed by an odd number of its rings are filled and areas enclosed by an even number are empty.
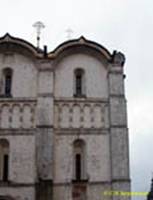
[[[87,97],[108,97],[107,71],[94,56],[72,54],[65,56],[56,66],[55,97],[73,97],[74,70],[85,70],[85,94]]]

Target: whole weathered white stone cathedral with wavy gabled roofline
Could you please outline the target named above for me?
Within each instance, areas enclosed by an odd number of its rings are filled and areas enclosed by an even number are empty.
[[[0,38],[0,200],[130,200],[124,63],[83,36]]]

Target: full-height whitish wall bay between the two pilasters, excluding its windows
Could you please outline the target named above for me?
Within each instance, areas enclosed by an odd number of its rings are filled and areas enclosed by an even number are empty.
[[[55,68],[53,197],[56,200],[73,199],[73,143],[77,139],[86,144],[85,179],[88,180],[78,188],[86,190],[89,200],[111,199],[103,195],[111,187],[108,69],[105,62],[93,55],[69,52]],[[77,68],[85,73],[85,98],[74,97]]]

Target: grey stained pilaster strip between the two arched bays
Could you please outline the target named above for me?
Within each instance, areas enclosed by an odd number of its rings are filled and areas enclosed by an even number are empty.
[[[38,180],[36,193],[39,197],[45,197],[45,200],[51,200],[53,180],[53,71],[48,61],[41,61],[39,64],[36,113]]]

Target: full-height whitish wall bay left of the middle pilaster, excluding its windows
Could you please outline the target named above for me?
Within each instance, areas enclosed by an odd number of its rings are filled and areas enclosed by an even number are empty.
[[[11,68],[12,97],[3,96],[3,70]],[[0,54],[0,139],[9,143],[8,182],[0,182],[0,195],[35,199],[37,69],[32,58],[15,52]]]

